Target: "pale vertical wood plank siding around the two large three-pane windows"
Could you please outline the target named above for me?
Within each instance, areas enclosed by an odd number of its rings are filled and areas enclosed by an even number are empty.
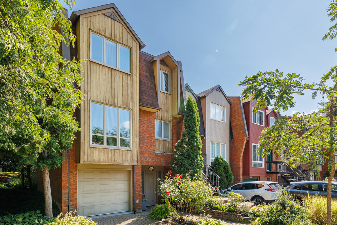
[[[118,15],[113,8],[91,12],[80,15],[76,25],[79,59],[85,60],[81,62],[81,76],[84,79],[81,91],[85,97],[80,106],[80,163],[138,165],[139,43],[125,24],[103,14],[111,11]],[[131,48],[131,74],[90,60],[90,31]],[[91,101],[131,110],[131,149],[90,146]]]

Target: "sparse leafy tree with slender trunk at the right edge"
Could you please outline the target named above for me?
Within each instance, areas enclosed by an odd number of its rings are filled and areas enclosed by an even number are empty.
[[[337,1],[331,2],[328,15],[333,22],[337,18]],[[329,28],[325,39],[336,37],[337,23]],[[336,49],[337,51],[337,49]],[[266,157],[271,154],[268,149],[275,149],[283,154],[283,161],[291,166],[307,163],[319,177],[316,165],[317,159],[325,159],[330,176],[328,178],[327,198],[327,224],[331,225],[331,181],[334,176],[334,153],[337,144],[337,65],[333,66],[327,74],[313,83],[305,83],[299,74],[283,74],[281,71],[259,72],[251,77],[246,77],[240,85],[245,86],[242,95],[244,99],[257,100],[254,107],[256,112],[261,107],[272,106],[276,110],[284,111],[295,105],[294,95],[304,95],[304,91],[312,91],[312,99],[317,94],[326,100],[317,112],[309,114],[295,113],[292,117],[278,118],[273,126],[264,129],[260,137],[258,152]],[[332,84],[330,86],[330,84]],[[302,133],[302,129],[306,132]],[[262,149],[265,151],[262,151]]]

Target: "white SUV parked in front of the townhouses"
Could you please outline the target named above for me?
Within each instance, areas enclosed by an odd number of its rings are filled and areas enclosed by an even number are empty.
[[[263,202],[274,202],[276,193],[281,192],[282,187],[272,181],[249,181],[233,185],[227,191],[239,193],[245,198],[248,197],[247,200],[261,204]]]

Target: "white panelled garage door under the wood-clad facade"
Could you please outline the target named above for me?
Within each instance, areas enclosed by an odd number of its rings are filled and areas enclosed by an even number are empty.
[[[129,211],[129,170],[79,169],[78,214],[94,216]]]

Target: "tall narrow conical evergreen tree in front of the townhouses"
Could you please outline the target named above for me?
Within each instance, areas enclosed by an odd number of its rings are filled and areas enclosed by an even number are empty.
[[[196,102],[190,97],[187,99],[184,125],[186,131],[176,144],[171,169],[175,173],[186,176],[189,172],[197,174],[201,178],[203,173],[203,157],[201,147],[203,145],[199,135],[200,118]]]

